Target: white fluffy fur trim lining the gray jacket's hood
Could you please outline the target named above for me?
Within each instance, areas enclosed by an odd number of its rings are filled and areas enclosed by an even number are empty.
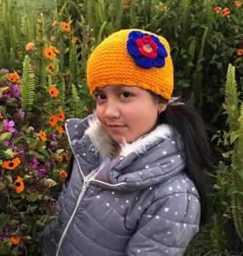
[[[85,134],[90,137],[92,146],[94,146],[95,151],[100,154],[101,160],[111,157],[116,152],[117,146],[117,144],[113,142],[113,138],[109,136],[96,117],[89,120],[89,125],[90,127],[85,131]],[[126,157],[132,152],[138,155],[142,154],[146,151],[146,145],[154,143],[158,138],[170,136],[171,128],[169,125],[158,125],[153,131],[138,138],[133,143],[126,143],[124,141],[120,145],[120,155]]]

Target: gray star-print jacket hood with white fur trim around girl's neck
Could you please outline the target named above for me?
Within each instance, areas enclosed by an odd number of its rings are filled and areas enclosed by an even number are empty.
[[[113,140],[95,114],[84,120],[68,119],[67,135],[72,152],[85,177],[95,170],[101,160],[113,154]],[[111,160],[95,181],[102,186],[119,189],[144,189],[161,183],[185,167],[182,144],[171,135],[169,125],[158,125],[133,143],[123,143],[118,157]]]

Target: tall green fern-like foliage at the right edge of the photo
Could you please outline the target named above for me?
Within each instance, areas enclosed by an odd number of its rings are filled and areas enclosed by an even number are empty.
[[[217,228],[218,224],[214,225],[211,235],[214,237],[213,242],[218,249],[240,253],[243,247],[243,104],[238,99],[235,70],[231,64],[229,64],[227,73],[223,108],[227,115],[227,129],[219,131],[219,136],[216,137],[217,143],[223,144],[224,160],[219,163],[215,185],[218,190],[218,201],[223,205],[219,207],[214,219],[217,222],[218,218],[226,219],[221,224],[220,230]],[[232,224],[234,224],[236,232],[227,232],[228,229],[232,230]],[[234,233],[237,235],[233,236]],[[228,236],[227,242],[223,240],[223,236]],[[234,243],[237,239],[238,247],[234,247],[237,245]]]

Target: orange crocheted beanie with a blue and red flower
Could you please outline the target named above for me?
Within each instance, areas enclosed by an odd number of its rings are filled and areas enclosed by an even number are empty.
[[[173,90],[170,45],[151,32],[126,29],[104,39],[90,55],[90,93],[106,85],[136,85],[170,100]]]

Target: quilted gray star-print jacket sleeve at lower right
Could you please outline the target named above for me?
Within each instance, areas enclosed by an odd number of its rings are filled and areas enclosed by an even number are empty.
[[[200,201],[196,195],[166,195],[143,213],[126,255],[179,256],[199,230]]]

